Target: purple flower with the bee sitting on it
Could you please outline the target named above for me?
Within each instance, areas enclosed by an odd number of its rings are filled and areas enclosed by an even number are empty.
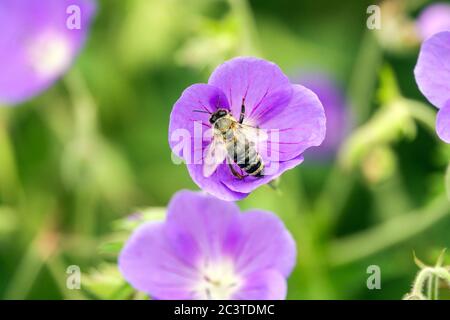
[[[229,201],[299,165],[303,152],[324,136],[317,96],[257,58],[232,59],[208,84],[188,87],[169,125],[172,151],[186,162],[194,182]]]

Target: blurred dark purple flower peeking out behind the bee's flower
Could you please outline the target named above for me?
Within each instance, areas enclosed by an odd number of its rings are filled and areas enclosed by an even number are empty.
[[[308,156],[317,159],[332,157],[350,130],[351,116],[342,90],[325,73],[306,73],[298,83],[312,90],[319,97],[327,119],[323,143],[311,149]]]

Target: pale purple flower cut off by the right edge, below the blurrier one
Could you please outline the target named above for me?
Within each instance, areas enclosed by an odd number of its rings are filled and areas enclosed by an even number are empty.
[[[450,31],[423,42],[414,73],[420,91],[439,109],[438,136],[450,143]]]

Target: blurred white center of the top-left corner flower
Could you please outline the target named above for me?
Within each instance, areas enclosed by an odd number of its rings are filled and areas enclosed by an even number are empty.
[[[63,72],[71,61],[71,46],[63,35],[47,32],[28,45],[28,62],[31,68],[43,78]]]

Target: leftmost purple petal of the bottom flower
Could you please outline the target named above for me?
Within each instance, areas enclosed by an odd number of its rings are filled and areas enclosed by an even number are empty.
[[[119,269],[136,289],[158,299],[193,299],[197,273],[167,241],[162,223],[136,230],[119,256]],[[186,259],[186,257],[184,257]]]

